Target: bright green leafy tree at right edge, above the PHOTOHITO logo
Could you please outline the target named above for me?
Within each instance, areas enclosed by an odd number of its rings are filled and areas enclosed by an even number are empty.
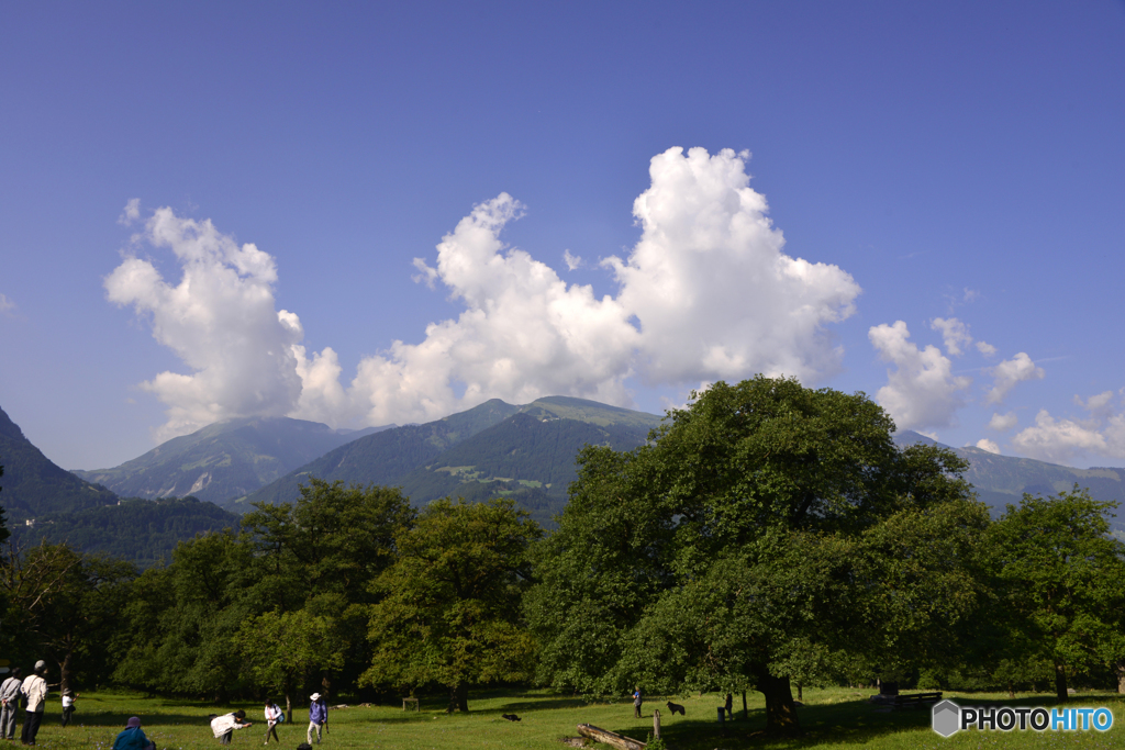
[[[1125,545],[1106,518],[1116,506],[1077,486],[1024,495],[991,530],[1011,640],[1023,645],[1015,656],[1053,667],[1059,701],[1068,675],[1125,658]]]

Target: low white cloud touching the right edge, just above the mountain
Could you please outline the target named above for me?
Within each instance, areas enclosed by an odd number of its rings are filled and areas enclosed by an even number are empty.
[[[1106,391],[1079,405],[1088,412],[1086,418],[1055,418],[1046,409],[1040,409],[1035,425],[1025,427],[1011,439],[1011,445],[1019,453],[1051,461],[1071,464],[1080,458],[1102,457],[1125,459],[1125,414],[1110,404],[1113,391]]]

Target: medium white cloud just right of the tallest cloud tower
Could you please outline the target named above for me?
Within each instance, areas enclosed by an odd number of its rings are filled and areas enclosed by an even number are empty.
[[[919,350],[909,341],[910,331],[902,320],[873,326],[867,332],[880,359],[896,365],[888,370],[888,382],[875,394],[900,430],[946,427],[964,405],[963,391],[972,378],[954,376],[950,358],[937,346]]]

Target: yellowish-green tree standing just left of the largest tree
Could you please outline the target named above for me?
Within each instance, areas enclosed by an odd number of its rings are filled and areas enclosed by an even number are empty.
[[[520,602],[538,524],[512,500],[434,500],[397,537],[397,560],[372,586],[370,685],[449,689],[468,711],[472,685],[531,676],[534,643]]]

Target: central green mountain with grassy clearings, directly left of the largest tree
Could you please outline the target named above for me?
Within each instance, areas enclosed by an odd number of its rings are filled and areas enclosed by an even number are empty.
[[[540,524],[554,525],[551,518],[566,504],[567,488],[578,478],[578,451],[587,444],[632,450],[647,440],[651,421],[630,412],[622,415],[620,423],[582,422],[554,416],[549,406],[524,407],[520,414],[441,453],[402,478],[398,484],[403,493],[415,504],[447,495],[470,500],[511,497]],[[583,415],[582,410],[565,413]],[[596,412],[594,415],[604,416]]]

